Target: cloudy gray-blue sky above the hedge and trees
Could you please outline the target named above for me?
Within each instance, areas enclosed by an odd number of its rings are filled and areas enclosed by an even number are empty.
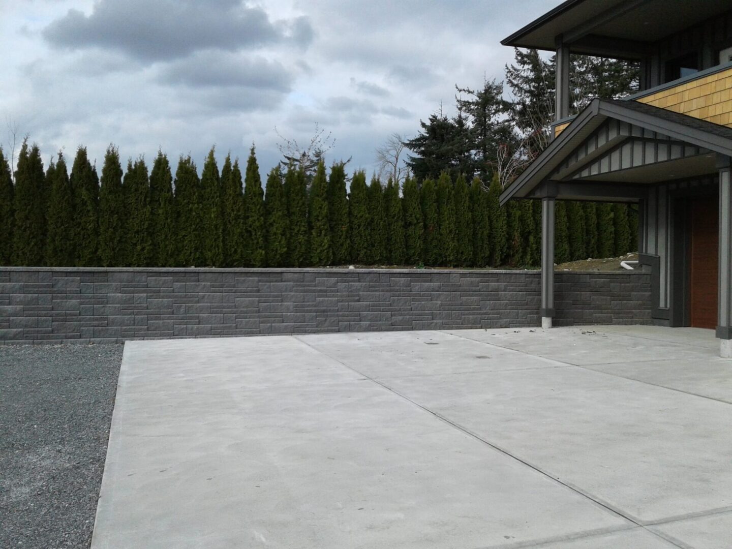
[[[212,145],[261,170],[319,124],[328,160],[375,168],[392,132],[415,135],[455,83],[503,78],[499,42],[559,0],[0,0],[0,143],[7,122],[46,163],[83,144],[100,167]],[[275,131],[275,128],[277,131]]]

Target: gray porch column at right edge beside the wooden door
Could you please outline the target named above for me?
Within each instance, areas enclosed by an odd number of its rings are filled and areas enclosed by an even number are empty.
[[[720,275],[717,337],[720,356],[732,359],[732,182],[730,158],[717,157],[720,169]]]

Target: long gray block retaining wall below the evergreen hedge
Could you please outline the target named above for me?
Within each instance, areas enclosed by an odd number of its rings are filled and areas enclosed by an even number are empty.
[[[648,273],[556,274],[556,324],[650,324]],[[538,326],[539,272],[0,267],[0,343]]]

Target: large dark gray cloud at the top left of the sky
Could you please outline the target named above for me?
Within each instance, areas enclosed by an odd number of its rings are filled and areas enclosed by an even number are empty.
[[[241,0],[100,0],[91,15],[69,10],[43,30],[53,45],[124,51],[146,61],[178,59],[194,51],[236,51],[283,42],[305,47],[313,29],[305,17],[269,20]]]

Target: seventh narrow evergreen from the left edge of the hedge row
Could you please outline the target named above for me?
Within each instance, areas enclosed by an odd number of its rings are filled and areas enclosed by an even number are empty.
[[[173,201],[173,173],[168,157],[162,151],[150,172],[150,226],[151,259],[150,264],[158,267],[173,267],[178,264],[179,253],[176,248],[176,210]]]

